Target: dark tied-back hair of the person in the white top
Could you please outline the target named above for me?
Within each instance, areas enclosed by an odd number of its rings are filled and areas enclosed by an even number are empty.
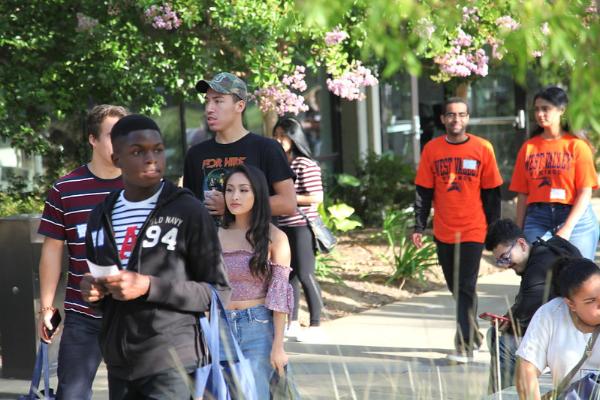
[[[600,268],[593,261],[561,257],[552,265],[552,288],[559,296],[571,299],[592,275],[600,275]]]

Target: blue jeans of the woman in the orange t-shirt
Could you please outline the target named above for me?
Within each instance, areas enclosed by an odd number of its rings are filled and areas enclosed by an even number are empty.
[[[567,204],[533,203],[527,206],[523,233],[530,243],[538,238],[550,239],[567,220],[572,206]],[[596,214],[589,204],[577,221],[569,241],[581,255],[594,260],[600,228]]]

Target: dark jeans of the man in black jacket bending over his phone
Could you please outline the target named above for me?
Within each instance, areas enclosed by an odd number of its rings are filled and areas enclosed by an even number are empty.
[[[490,349],[490,378],[489,378],[489,393],[496,393],[509,386],[515,385],[515,367],[517,365],[517,349],[519,344],[514,335],[504,333],[500,334],[498,341],[498,351],[500,356],[500,388],[498,387],[498,368],[496,361],[496,332],[492,327],[487,332],[488,348]]]

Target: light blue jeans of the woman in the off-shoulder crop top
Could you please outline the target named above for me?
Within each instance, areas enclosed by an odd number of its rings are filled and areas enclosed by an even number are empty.
[[[271,367],[271,347],[273,346],[273,311],[265,306],[245,310],[227,310],[234,339],[242,354],[250,361],[259,399],[269,399],[269,381],[273,374]],[[220,321],[221,327],[225,321]],[[236,361],[233,348],[221,331],[221,361]]]

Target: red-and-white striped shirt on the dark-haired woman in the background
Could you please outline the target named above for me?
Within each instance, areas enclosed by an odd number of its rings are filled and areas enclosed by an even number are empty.
[[[321,167],[316,161],[306,157],[296,157],[290,165],[292,171],[296,174],[296,194],[303,196],[322,195],[323,182],[321,181]],[[310,206],[298,206],[300,210],[312,221],[318,216],[317,204]],[[296,211],[294,215],[281,216],[279,218],[280,226],[301,226],[306,225],[306,219]]]

